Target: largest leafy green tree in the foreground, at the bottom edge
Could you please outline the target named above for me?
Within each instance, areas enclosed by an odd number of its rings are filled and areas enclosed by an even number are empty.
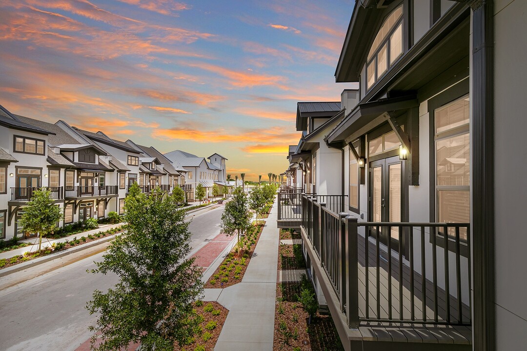
[[[192,302],[202,294],[201,269],[190,253],[189,223],[175,196],[130,187],[125,200],[126,235],[116,237],[90,272],[115,273],[119,282],[93,293],[86,308],[99,313],[90,326],[91,346],[118,350],[140,342],[142,350],[172,351],[193,335],[199,320]],[[100,334],[100,335],[99,335]],[[95,343],[102,343],[95,347]]]

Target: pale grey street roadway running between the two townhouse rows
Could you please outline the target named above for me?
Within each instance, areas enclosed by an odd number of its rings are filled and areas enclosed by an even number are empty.
[[[222,211],[223,206],[189,216],[191,253],[219,234]],[[96,316],[87,313],[86,302],[94,289],[105,291],[117,282],[113,274],[86,273],[104,254],[94,253],[51,271],[40,267],[42,275],[0,290],[0,350],[75,350],[90,337],[87,327]]]

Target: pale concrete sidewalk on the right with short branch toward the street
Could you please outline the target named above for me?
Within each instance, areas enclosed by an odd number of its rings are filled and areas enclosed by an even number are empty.
[[[225,289],[205,289],[204,300],[217,301],[229,309],[214,351],[272,350],[279,238],[275,205],[265,219],[241,283]]]

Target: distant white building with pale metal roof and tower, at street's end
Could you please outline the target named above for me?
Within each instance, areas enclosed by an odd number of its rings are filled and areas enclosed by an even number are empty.
[[[208,157],[209,161],[204,157],[199,157],[181,150],[174,150],[164,154],[173,165],[179,165],[188,170],[187,177],[184,179],[185,185],[190,187],[189,199],[196,200],[196,186],[201,184],[206,188],[206,197],[212,197],[212,186],[217,184],[222,192],[223,186],[228,186],[226,183],[227,158],[212,154]]]

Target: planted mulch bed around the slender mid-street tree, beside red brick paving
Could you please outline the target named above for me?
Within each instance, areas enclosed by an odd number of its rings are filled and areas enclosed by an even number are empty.
[[[207,283],[205,283],[205,288],[226,288],[241,282],[252,254],[255,251],[256,244],[258,244],[264,225],[265,221],[263,220],[258,222],[258,226],[253,224],[253,228],[248,230],[244,238],[246,243],[250,242],[250,247],[247,248],[245,246],[241,254],[230,252],[214,271]]]

